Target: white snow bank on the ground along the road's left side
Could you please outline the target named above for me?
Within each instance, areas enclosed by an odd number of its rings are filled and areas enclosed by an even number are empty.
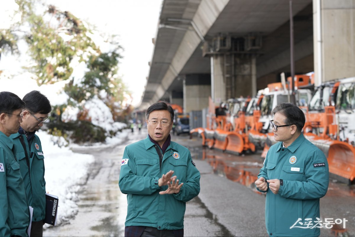
[[[93,155],[75,153],[69,147],[59,147],[58,143],[65,144],[65,141],[56,141],[58,137],[53,137],[45,131],[36,133],[42,143],[45,164],[46,190],[50,194],[59,197],[58,216],[56,225],[61,225],[74,217],[78,212],[78,200],[76,192],[80,189],[80,184],[86,182],[88,168],[94,161]],[[90,149],[103,149],[108,146],[115,146],[126,139],[128,130],[120,133],[116,138],[107,140],[107,144],[94,144]],[[64,139],[62,139],[64,140]],[[55,141],[55,143],[54,143]],[[76,149],[80,146],[75,146]],[[88,146],[83,147],[86,150]],[[44,228],[51,227],[45,224]]]

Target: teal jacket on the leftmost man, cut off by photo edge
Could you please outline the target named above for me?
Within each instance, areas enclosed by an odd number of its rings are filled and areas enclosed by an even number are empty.
[[[13,142],[0,132],[0,236],[28,236],[29,210]]]

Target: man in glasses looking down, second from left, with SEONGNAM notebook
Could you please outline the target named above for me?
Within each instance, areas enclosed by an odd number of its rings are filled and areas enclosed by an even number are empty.
[[[13,152],[20,164],[28,204],[33,208],[31,237],[43,236],[46,204],[44,156],[41,141],[35,132],[43,126],[52,109],[47,97],[39,91],[27,93],[22,100],[26,106],[22,111],[20,129],[11,135],[15,144]]]

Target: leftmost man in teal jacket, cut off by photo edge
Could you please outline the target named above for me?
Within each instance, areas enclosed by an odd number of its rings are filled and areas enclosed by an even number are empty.
[[[14,93],[0,92],[0,236],[28,236],[26,191],[9,138],[20,128],[23,107],[24,102]]]

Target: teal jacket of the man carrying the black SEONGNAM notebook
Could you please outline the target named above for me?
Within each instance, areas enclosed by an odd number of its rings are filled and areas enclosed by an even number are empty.
[[[26,145],[26,151],[20,141],[20,136]],[[30,142],[25,135],[15,133],[10,135],[15,145],[13,152],[20,165],[20,171],[26,188],[28,204],[33,208],[32,221],[41,221],[45,217],[45,180],[44,180],[44,156],[41,141],[34,135]],[[36,145],[37,144],[37,145]],[[26,161],[28,157],[29,168]]]

